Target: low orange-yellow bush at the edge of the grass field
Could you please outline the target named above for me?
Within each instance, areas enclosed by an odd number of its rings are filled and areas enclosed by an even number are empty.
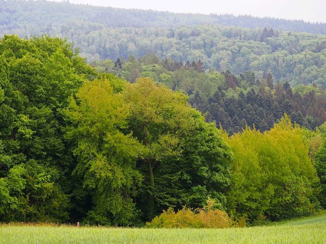
[[[197,208],[195,211],[183,207],[175,212],[173,208],[163,211],[160,216],[156,216],[148,228],[227,228],[231,227],[232,220],[228,214],[219,209],[213,209],[213,201],[208,201],[204,208]]]

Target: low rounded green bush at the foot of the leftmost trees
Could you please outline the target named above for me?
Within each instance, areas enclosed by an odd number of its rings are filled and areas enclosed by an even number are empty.
[[[2,221],[63,222],[68,220],[68,197],[56,181],[59,172],[30,160],[15,165],[0,178]]]

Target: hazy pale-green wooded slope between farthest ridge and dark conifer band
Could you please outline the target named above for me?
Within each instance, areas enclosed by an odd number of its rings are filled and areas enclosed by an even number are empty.
[[[92,37],[91,37],[92,36]],[[79,41],[80,43],[80,41]],[[79,45],[79,44],[78,44]],[[80,51],[91,50],[97,59],[136,58],[155,53],[159,59],[203,63],[202,68],[239,75],[252,70],[257,76],[273,73],[276,81],[291,85],[325,85],[326,36],[284,33],[273,29],[196,26],[105,29],[90,34]],[[92,56],[86,54],[92,60]]]

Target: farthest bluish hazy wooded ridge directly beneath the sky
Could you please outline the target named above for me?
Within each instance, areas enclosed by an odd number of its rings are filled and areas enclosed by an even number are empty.
[[[180,25],[220,24],[326,34],[326,23],[310,23],[303,20],[230,14],[177,14],[47,1],[0,0],[0,34],[2,35],[5,33],[15,33],[19,36],[61,33],[65,26],[69,26],[74,21],[91,22],[93,29],[103,25],[105,27],[176,27]]]

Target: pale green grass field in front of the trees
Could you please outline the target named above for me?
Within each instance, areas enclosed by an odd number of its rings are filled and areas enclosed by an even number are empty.
[[[137,229],[0,226],[0,243],[326,243],[326,215],[273,226],[228,229]]]

